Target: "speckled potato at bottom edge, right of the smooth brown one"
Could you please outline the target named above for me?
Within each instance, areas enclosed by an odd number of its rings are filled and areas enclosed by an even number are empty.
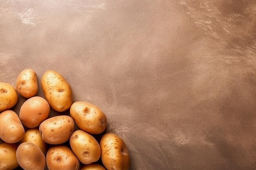
[[[54,146],[46,155],[49,170],[78,170],[79,160],[67,146]]]

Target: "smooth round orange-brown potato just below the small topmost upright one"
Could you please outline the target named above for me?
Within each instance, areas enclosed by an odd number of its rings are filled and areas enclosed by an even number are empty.
[[[42,97],[31,97],[20,108],[20,121],[28,128],[39,126],[50,113],[48,102]]]

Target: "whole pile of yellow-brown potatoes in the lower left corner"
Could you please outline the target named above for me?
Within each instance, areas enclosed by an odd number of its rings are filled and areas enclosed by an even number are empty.
[[[20,73],[16,89],[0,82],[0,170],[20,166],[24,170],[128,170],[129,151],[115,134],[101,137],[100,144],[92,136],[107,126],[106,115],[88,102],[74,102],[72,89],[56,71],[46,71],[38,92],[36,72]],[[9,110],[18,102],[18,93],[28,98],[17,114]],[[70,116],[49,118],[50,108],[58,112],[70,109]],[[75,124],[80,130],[75,129]],[[24,128],[24,126],[26,128]],[[25,129],[27,129],[25,131]],[[64,143],[69,141],[69,145]],[[95,162],[102,161],[103,166]],[[104,167],[105,166],[105,167]]]

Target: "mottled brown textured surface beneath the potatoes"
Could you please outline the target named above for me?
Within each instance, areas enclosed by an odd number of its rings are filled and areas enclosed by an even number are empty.
[[[255,170],[255,16],[254,0],[5,0],[0,81],[60,72],[131,170]]]

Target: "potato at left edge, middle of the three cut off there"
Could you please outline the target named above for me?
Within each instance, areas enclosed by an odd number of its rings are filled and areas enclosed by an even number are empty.
[[[0,113],[0,125],[0,138],[7,143],[16,143],[25,135],[18,115],[12,110]]]

